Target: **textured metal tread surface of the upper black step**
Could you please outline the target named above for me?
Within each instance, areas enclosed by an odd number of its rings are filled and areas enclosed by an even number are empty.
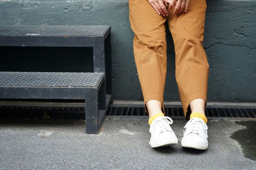
[[[109,25],[0,25],[0,36],[104,36]]]

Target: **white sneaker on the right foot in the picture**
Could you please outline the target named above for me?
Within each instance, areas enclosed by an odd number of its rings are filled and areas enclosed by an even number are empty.
[[[208,148],[207,125],[202,118],[191,118],[184,127],[181,146],[206,150]]]

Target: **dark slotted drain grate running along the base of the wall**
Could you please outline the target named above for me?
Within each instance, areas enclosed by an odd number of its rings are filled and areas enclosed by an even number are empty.
[[[30,106],[29,106],[30,105]],[[66,113],[69,117],[84,117],[84,103],[64,103],[64,104],[35,104],[31,106],[28,104],[10,104],[8,106],[0,105],[0,112],[4,111],[47,111],[47,113]],[[166,115],[168,117],[184,117],[182,107],[180,106],[168,106],[164,107]],[[7,113],[6,112],[6,113]],[[19,112],[20,113],[20,112]],[[129,106],[116,106],[110,105],[107,111],[109,116],[121,116],[121,117],[136,117],[147,116],[145,108],[143,106],[129,105]],[[222,118],[256,118],[256,108],[217,108],[209,107],[205,109],[205,115],[207,117],[222,117]]]

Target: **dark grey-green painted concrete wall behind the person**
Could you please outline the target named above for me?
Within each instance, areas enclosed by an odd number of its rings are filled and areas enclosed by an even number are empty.
[[[207,0],[209,101],[256,102],[256,1]],[[127,0],[0,0],[3,25],[111,25],[113,97],[143,100]],[[165,101],[180,101],[170,32]],[[12,67],[12,64],[8,65]]]

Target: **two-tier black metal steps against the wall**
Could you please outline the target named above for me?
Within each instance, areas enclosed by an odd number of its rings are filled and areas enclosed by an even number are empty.
[[[84,99],[86,133],[99,132],[112,101],[108,25],[0,25],[0,46],[93,47],[93,73],[0,71],[0,98]]]

